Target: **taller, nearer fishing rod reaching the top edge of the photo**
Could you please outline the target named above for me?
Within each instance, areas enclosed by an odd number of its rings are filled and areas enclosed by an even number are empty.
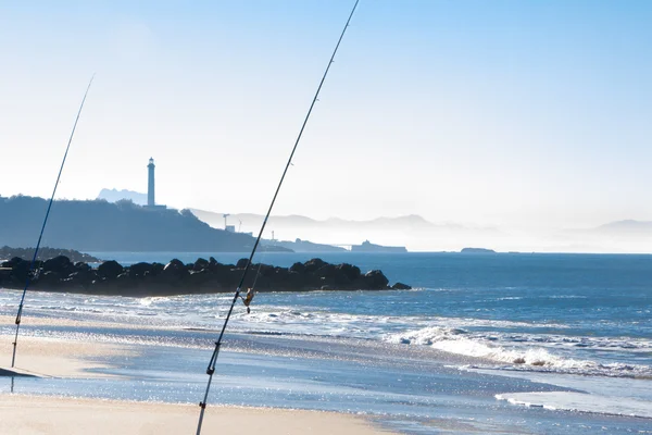
[[[226,325],[228,324],[228,320],[230,319],[231,312],[234,311],[236,301],[238,300],[238,297],[240,296],[242,285],[244,284],[244,278],[247,277],[247,273],[249,272],[249,269],[251,268],[251,261],[253,260],[255,250],[261,241],[263,232],[265,231],[265,225],[267,224],[269,214],[272,214],[272,209],[274,208],[274,203],[276,202],[276,197],[278,196],[278,192],[280,191],[280,186],[283,185],[285,176],[288,173],[288,169],[290,167],[290,164],[292,164],[292,158],[294,157],[294,151],[297,151],[297,147],[299,146],[299,141],[301,140],[301,136],[303,135],[303,130],[305,128],[305,125],[308,124],[308,120],[310,119],[310,115],[315,105],[315,102],[317,101],[317,98],[319,97],[319,91],[322,90],[322,86],[324,85],[324,82],[326,80],[326,76],[328,75],[330,65],[334,62],[335,54],[337,54],[337,50],[339,49],[340,42],[342,41],[344,34],[347,33],[347,28],[349,28],[349,23],[351,22],[351,18],[353,17],[353,13],[355,12],[355,8],[358,8],[359,1],[360,0],[355,0],[355,4],[353,4],[353,9],[351,10],[351,13],[349,14],[347,24],[344,25],[344,28],[342,29],[342,33],[337,41],[337,45],[335,46],[335,50],[333,50],[333,54],[330,55],[330,60],[328,61],[328,65],[326,66],[326,71],[324,72],[324,76],[322,76],[322,80],[319,82],[317,91],[315,92],[312,103],[310,104],[310,109],[308,110],[305,119],[303,120],[303,124],[301,125],[301,129],[299,130],[299,135],[297,136],[297,140],[294,141],[294,146],[292,147],[292,152],[290,152],[288,162],[286,163],[285,170],[283,171],[283,175],[280,176],[280,181],[278,182],[278,186],[276,187],[276,191],[274,192],[274,197],[272,198],[272,202],[269,203],[269,209],[267,210],[267,214],[265,214],[265,219],[263,220],[263,224],[261,225],[261,231],[259,232],[258,238],[255,239],[255,243],[253,244],[253,249],[251,249],[251,254],[249,256],[249,261],[247,261],[247,265],[244,266],[244,271],[242,272],[242,277],[240,278],[240,283],[238,284],[238,287],[236,287],[236,294],[234,295],[234,300],[231,301],[230,308],[228,309],[226,318],[224,319],[224,325],[222,326],[222,331],[220,332],[217,341],[215,341],[215,349],[213,350],[213,355],[211,356],[211,360],[209,361],[209,366],[206,368],[206,374],[209,375],[206,390],[204,393],[203,401],[201,401],[199,403],[201,411],[199,413],[199,422],[197,424],[197,435],[201,434],[201,424],[203,422],[204,412],[206,410],[206,402],[209,400],[209,391],[211,389],[213,374],[215,373],[215,363],[217,362],[217,355],[220,353],[220,347],[222,346],[222,338],[224,337],[224,332],[226,331]]]

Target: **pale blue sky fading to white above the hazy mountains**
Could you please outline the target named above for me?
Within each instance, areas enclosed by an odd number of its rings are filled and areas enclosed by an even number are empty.
[[[0,194],[263,212],[352,1],[0,0]],[[652,2],[361,0],[277,214],[652,220]]]

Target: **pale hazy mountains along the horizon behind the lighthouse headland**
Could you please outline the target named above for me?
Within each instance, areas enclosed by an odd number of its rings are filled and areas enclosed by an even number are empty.
[[[104,190],[104,189],[103,189]],[[136,191],[105,189],[104,199],[115,202],[129,198]],[[108,195],[106,195],[108,194]],[[131,195],[120,195],[131,194]],[[142,198],[141,198],[142,199]],[[138,202],[135,202],[138,203]],[[143,204],[140,201],[140,204]],[[174,209],[174,208],[172,208]],[[211,226],[224,229],[223,212],[191,210]],[[228,224],[236,232],[258,235],[263,221],[261,213],[230,211]],[[575,253],[651,253],[652,222],[623,220],[605,222],[591,227],[557,227],[523,229],[505,226],[482,226],[473,222],[431,222],[417,214],[379,215],[369,220],[350,220],[331,215],[315,219],[305,214],[273,213],[264,238],[293,241],[296,238],[317,244],[350,246],[364,240],[386,246],[405,246],[410,251],[459,251],[466,247],[493,249],[499,252],[575,252]]]

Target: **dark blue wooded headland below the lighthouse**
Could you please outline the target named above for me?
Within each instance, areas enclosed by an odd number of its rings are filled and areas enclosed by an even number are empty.
[[[42,198],[0,197],[0,246],[36,245],[47,207]],[[64,200],[52,204],[41,245],[87,252],[247,252],[253,243],[247,234],[212,228],[188,210],[152,210],[127,200]]]

